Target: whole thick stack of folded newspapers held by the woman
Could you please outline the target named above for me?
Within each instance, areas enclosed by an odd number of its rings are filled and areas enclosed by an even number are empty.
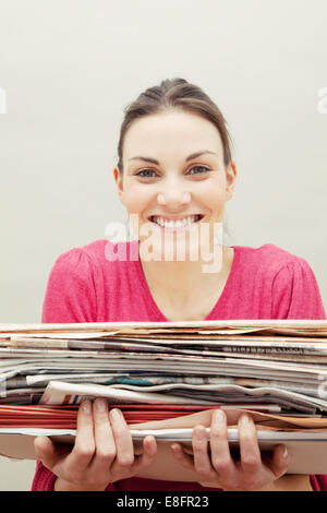
[[[286,444],[290,473],[327,474],[327,321],[0,324],[0,454],[72,443],[78,404],[119,407],[135,442],[191,444],[215,408],[253,417],[259,445]]]

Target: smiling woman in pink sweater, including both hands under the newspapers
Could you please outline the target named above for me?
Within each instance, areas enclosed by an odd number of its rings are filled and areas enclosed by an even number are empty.
[[[225,119],[199,87],[175,79],[141,94],[125,111],[118,154],[114,180],[121,203],[137,220],[137,240],[98,240],[60,255],[49,277],[43,322],[326,319],[305,260],[274,244],[217,243],[215,229],[233,195],[237,168]],[[203,227],[205,237],[194,239]],[[193,259],[196,240],[201,254]],[[175,255],[179,243],[183,259]],[[112,258],[121,249],[128,249],[128,258]],[[204,272],[208,260],[203,250],[208,249],[217,256],[216,267]],[[131,258],[135,250],[138,260]],[[254,423],[245,415],[239,420],[241,458],[233,461],[227,421],[222,411],[213,414],[210,455],[204,428],[197,426],[193,455],[177,443],[157,446],[147,437],[136,456],[119,409],[108,415],[102,399],[85,402],[72,451],[63,453],[46,437],[36,439],[33,490],[324,487],[324,476],[286,476],[290,455],[282,445],[271,461],[262,461]]]

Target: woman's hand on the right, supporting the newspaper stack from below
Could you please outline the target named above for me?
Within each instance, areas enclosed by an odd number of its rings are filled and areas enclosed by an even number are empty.
[[[210,426],[210,457],[207,433],[203,426],[193,430],[193,456],[186,454],[179,443],[171,445],[174,457],[185,468],[195,470],[203,479],[201,485],[226,491],[274,490],[274,482],[288,469],[290,456],[283,445],[277,445],[272,457],[262,461],[256,428],[249,415],[242,414],[238,421],[240,461],[230,455],[227,418],[222,409],[213,411]]]

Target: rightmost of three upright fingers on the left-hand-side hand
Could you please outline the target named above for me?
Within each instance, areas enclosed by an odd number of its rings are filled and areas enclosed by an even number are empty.
[[[134,446],[131,430],[118,408],[110,410],[111,429],[116,443],[114,470],[118,466],[130,467],[134,463]]]

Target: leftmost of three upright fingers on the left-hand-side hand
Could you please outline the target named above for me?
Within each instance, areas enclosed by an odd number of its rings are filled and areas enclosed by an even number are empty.
[[[68,474],[82,474],[95,454],[95,439],[90,401],[81,404],[77,413],[77,430],[75,444],[68,455],[65,470]]]

